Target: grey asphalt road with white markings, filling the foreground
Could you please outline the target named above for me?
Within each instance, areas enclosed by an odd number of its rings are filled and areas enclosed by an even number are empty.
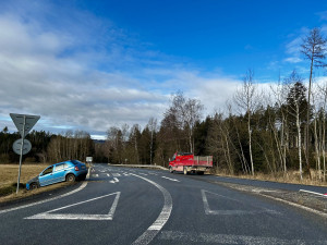
[[[0,244],[327,244],[326,218],[219,182],[327,193],[95,164],[87,182],[1,207]]]

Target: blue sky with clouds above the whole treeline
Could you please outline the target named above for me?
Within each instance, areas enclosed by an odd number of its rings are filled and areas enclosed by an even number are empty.
[[[178,90],[210,114],[249,69],[258,84],[307,77],[313,27],[327,34],[326,1],[0,0],[0,131],[26,113],[35,130],[98,138],[160,121]]]

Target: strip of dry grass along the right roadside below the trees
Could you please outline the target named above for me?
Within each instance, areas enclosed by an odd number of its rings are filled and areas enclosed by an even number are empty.
[[[217,175],[235,177],[235,175],[231,175],[227,171],[215,170],[215,173]],[[237,177],[257,180],[257,181],[271,181],[271,182],[279,182],[279,183],[327,186],[327,182],[322,182],[318,180],[317,171],[312,170],[311,174],[312,174],[312,180],[308,177],[308,175],[303,175],[302,181],[300,180],[299,171],[288,171],[287,174],[284,174],[283,172],[278,172],[275,174],[255,173],[254,176],[252,176],[250,174],[240,174],[240,175],[237,175]]]

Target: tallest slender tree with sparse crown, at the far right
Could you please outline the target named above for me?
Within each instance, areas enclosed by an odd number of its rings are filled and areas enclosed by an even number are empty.
[[[301,45],[301,52],[304,54],[305,59],[310,60],[310,78],[308,78],[308,90],[307,90],[307,102],[311,103],[311,86],[312,86],[312,75],[313,69],[319,66],[326,66],[324,62],[326,58],[327,51],[327,39],[322,36],[320,29],[315,27],[313,28],[310,34],[303,39],[303,44]],[[310,161],[308,161],[308,126],[310,126],[310,114],[308,110],[306,113],[306,167],[308,170],[308,174],[311,177],[310,172]]]

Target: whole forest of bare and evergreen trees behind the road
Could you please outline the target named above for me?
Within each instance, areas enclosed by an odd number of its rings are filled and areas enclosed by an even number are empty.
[[[308,61],[310,77],[294,70],[264,88],[250,69],[226,107],[210,115],[204,115],[201,100],[179,90],[171,95],[160,122],[150,118],[144,128],[111,126],[104,142],[83,131],[59,135],[33,131],[27,135],[33,149],[24,161],[85,161],[93,156],[95,162],[168,167],[173,152],[187,151],[214,156],[214,169],[227,174],[296,171],[299,180],[314,175],[326,182],[327,79],[315,79],[315,71],[326,66],[326,42],[318,28],[303,39],[301,52]],[[19,161],[12,150],[17,138],[7,127],[1,131],[0,163]]]

